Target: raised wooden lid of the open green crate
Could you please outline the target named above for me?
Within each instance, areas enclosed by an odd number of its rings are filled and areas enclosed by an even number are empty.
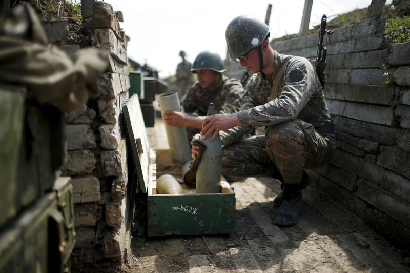
[[[141,191],[146,193],[149,179],[149,144],[138,95],[131,96],[122,105],[122,111],[124,112],[127,138],[131,144],[132,161],[138,174],[139,185]]]

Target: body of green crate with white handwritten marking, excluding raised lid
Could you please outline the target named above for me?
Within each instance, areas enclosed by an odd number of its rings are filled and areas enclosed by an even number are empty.
[[[195,194],[195,187],[181,183],[183,194],[157,194],[156,177],[168,173],[182,180],[181,169],[172,163],[169,150],[151,150],[149,173],[148,236],[233,232],[235,192],[228,182],[221,182],[220,193]]]

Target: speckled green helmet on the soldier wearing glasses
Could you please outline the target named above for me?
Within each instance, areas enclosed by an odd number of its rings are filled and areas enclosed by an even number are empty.
[[[268,25],[255,17],[240,15],[233,18],[225,32],[231,61],[262,44],[268,34]]]

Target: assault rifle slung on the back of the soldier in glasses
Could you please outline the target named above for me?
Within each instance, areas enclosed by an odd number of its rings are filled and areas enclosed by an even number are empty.
[[[313,62],[316,74],[319,77],[319,81],[320,81],[320,84],[322,85],[322,88],[324,88],[324,83],[325,83],[324,70],[326,69],[326,53],[327,53],[327,48],[323,47],[323,37],[324,35],[333,34],[333,31],[326,29],[326,22],[327,22],[326,14],[323,14],[322,22],[320,24],[320,30],[319,30],[319,42],[317,42],[317,56],[316,56],[316,60]]]

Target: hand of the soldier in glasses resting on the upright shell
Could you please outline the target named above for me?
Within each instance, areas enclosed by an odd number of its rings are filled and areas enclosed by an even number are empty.
[[[227,115],[211,115],[203,119],[202,130],[203,139],[207,139],[212,134],[210,141],[213,141],[220,130],[228,130],[241,125],[236,113]]]

